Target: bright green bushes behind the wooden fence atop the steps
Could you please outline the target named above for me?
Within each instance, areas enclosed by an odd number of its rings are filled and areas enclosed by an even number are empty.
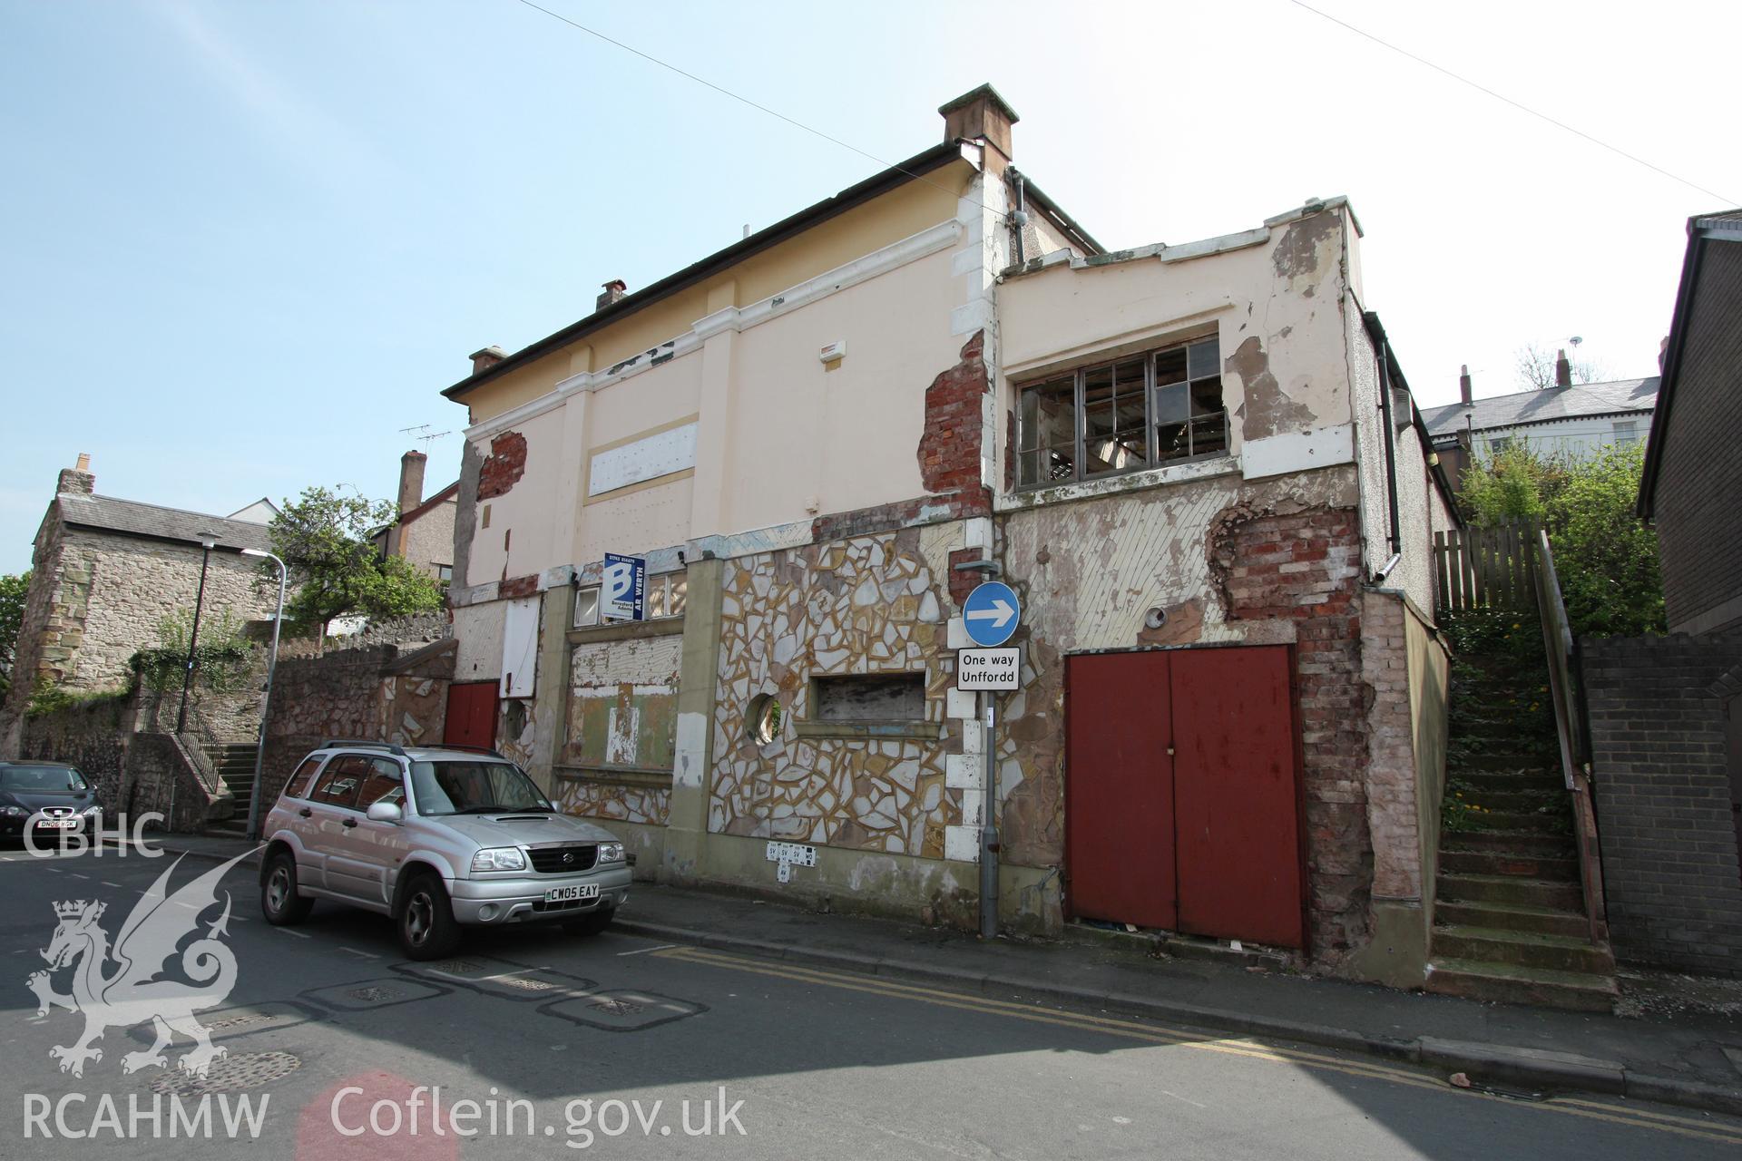
[[[1514,446],[1465,472],[1463,503],[1477,527],[1524,520],[1549,529],[1575,634],[1660,634],[1657,533],[1634,513],[1643,472],[1643,444],[1604,447],[1582,460]]]

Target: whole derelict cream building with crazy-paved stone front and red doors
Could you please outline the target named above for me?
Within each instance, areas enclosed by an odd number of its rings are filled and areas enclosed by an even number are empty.
[[[469,407],[446,721],[639,870],[1421,983],[1456,517],[1343,198],[1108,252],[942,141],[531,346]],[[606,554],[646,618],[601,616]],[[988,754],[962,602],[1023,601]]]

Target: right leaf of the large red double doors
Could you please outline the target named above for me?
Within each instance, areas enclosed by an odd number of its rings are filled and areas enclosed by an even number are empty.
[[[1305,947],[1287,646],[1172,654],[1179,929]]]

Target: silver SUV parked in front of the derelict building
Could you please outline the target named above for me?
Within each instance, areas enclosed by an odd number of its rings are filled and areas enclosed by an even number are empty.
[[[441,959],[462,924],[566,923],[594,935],[629,898],[624,844],[557,811],[495,750],[326,742],[263,827],[267,923],[317,898],[392,916],[411,959]]]

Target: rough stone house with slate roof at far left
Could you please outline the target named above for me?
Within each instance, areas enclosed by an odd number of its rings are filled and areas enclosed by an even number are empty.
[[[277,592],[256,587],[258,562],[239,548],[268,548],[267,527],[138,500],[96,494],[89,456],[66,468],[37,531],[30,592],[17,639],[12,688],[0,707],[0,755],[14,757],[19,724],[35,688],[68,691],[127,686],[134,653],[159,644],[165,616],[192,611],[200,581],[200,541],[216,552],[206,578],[207,614],[270,621]],[[258,698],[254,698],[258,701]],[[228,721],[240,714],[239,721]],[[219,731],[247,738],[246,707],[226,710]]]

